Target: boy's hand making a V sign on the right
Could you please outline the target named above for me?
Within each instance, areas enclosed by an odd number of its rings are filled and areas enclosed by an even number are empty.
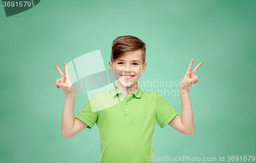
[[[187,72],[184,76],[184,78],[182,79],[181,83],[180,83],[180,90],[189,90],[189,88],[191,87],[191,85],[196,84],[199,80],[198,80],[198,76],[194,75],[197,71],[197,69],[203,64],[203,62],[200,62],[192,71],[192,65],[193,65],[194,59],[192,59],[190,61],[190,64],[187,68]]]

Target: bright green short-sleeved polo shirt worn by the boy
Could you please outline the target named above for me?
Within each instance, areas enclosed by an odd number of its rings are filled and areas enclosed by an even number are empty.
[[[112,103],[114,105],[99,108],[111,101],[115,101]],[[90,102],[99,111],[92,109]],[[156,91],[143,91],[137,86],[136,91],[126,98],[114,86],[109,91],[96,92],[76,118],[86,123],[89,129],[95,123],[98,126],[101,163],[143,163],[154,162],[151,158],[154,157],[153,134],[156,124],[163,128],[177,114]]]

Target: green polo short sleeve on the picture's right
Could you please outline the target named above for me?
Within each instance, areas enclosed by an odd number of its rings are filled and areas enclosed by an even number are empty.
[[[156,119],[158,125],[163,128],[176,117],[178,112],[158,92],[156,95]]]

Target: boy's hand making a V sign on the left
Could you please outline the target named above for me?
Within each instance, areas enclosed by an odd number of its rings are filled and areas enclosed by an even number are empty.
[[[61,72],[61,70],[59,69],[58,65],[56,64],[55,65],[57,71],[59,72],[59,75],[61,76],[60,79],[57,79],[56,80],[56,86],[57,88],[59,89],[59,87],[61,87],[61,89],[63,90],[63,92],[67,95],[69,94],[70,92],[74,92],[75,93],[75,89],[74,89],[74,86],[70,80],[70,77],[69,77],[69,72],[68,72],[68,66],[67,66],[67,63],[64,62],[64,71],[65,71],[65,74],[63,74]]]

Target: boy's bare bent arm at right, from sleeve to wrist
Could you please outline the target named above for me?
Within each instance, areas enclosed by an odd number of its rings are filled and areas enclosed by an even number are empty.
[[[180,90],[181,116],[179,114],[168,125],[184,135],[193,135],[194,119],[188,90]]]

